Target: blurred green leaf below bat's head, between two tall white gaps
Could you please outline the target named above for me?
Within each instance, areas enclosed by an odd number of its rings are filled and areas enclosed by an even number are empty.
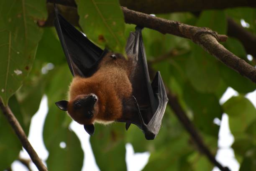
[[[51,171],[81,171],[84,152],[77,135],[64,126],[65,117],[67,114],[56,106],[52,106],[47,114],[44,125],[47,128],[44,130],[44,142],[49,151],[47,167]],[[65,143],[66,147],[61,148],[60,143]]]

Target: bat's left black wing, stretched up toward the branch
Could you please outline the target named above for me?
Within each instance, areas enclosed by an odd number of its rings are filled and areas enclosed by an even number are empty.
[[[83,33],[72,26],[55,8],[54,26],[73,76],[90,77],[107,50],[92,43]]]

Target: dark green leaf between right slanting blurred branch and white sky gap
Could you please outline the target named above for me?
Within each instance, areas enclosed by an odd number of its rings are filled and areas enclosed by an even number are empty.
[[[222,111],[215,94],[197,92],[186,85],[184,100],[193,111],[195,126],[206,134],[218,137],[219,126],[213,123],[215,117],[221,118]]]

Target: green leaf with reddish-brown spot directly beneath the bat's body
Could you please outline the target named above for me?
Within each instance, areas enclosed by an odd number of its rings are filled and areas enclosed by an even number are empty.
[[[95,125],[90,143],[100,170],[126,171],[124,131],[123,123]]]

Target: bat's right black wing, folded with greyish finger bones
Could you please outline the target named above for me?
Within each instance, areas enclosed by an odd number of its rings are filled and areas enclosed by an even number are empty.
[[[126,44],[126,53],[133,57],[134,71],[131,77],[133,100],[137,113],[123,116],[120,122],[126,122],[126,129],[133,123],[143,130],[147,140],[158,134],[168,98],[160,72],[150,83],[146,53],[141,35],[141,28],[130,33]],[[129,111],[131,112],[131,110]],[[127,112],[128,113],[128,112]]]

